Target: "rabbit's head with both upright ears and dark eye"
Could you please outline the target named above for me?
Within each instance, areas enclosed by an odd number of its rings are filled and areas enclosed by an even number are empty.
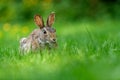
[[[40,35],[44,38],[45,43],[56,43],[56,30],[52,27],[55,20],[55,13],[48,16],[46,25],[44,25],[43,18],[40,15],[35,15],[34,21],[40,28]]]

